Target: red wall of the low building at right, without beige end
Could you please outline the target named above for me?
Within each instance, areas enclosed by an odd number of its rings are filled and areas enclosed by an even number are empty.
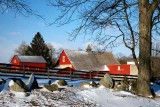
[[[130,75],[130,65],[108,65],[110,74]]]

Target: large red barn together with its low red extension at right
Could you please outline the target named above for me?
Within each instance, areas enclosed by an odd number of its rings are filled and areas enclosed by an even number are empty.
[[[93,52],[90,47],[87,51],[63,50],[57,67],[101,73],[107,71],[113,75],[138,75],[135,65],[120,64],[111,52]]]

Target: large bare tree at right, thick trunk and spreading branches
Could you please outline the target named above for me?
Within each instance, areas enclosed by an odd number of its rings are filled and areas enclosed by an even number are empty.
[[[139,68],[137,94],[150,96],[151,78],[151,42],[153,33],[159,29],[160,0],[49,0],[52,6],[58,7],[61,15],[55,23],[60,25],[72,21],[79,23],[70,36],[75,39],[79,34],[92,35],[99,44],[115,46],[117,39],[122,38],[125,46],[132,52]],[[80,19],[80,20],[79,20]],[[106,28],[112,27],[119,34],[111,34]],[[139,45],[138,45],[139,44]],[[139,46],[139,64],[135,54]]]

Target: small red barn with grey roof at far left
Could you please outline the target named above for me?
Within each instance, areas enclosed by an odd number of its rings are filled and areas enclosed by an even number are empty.
[[[47,64],[42,56],[19,56],[19,55],[15,55],[10,63],[13,65],[19,65],[19,66],[12,66],[12,68],[25,67],[26,70],[33,70],[33,71],[46,71],[46,64]]]

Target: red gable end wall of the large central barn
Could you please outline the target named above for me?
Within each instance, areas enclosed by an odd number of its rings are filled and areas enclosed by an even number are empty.
[[[63,56],[65,56],[65,61],[63,62]],[[65,51],[63,50],[60,57],[59,57],[59,65],[68,65],[71,64],[71,61],[69,60],[68,56],[66,55]],[[74,66],[72,65],[72,69],[75,70]]]

